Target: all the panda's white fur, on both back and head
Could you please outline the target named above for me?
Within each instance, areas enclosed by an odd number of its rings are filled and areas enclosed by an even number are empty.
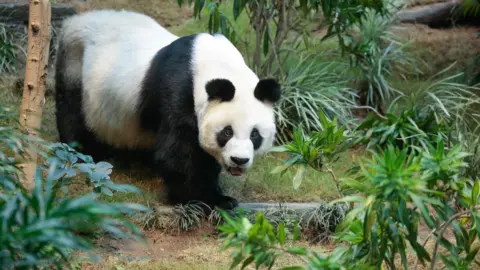
[[[152,147],[154,134],[139,128],[141,81],[155,53],[178,37],[145,15],[109,10],[71,17],[64,22],[61,34],[69,48],[67,77],[83,84],[87,126],[114,146]],[[252,128],[257,127],[264,137],[257,153],[265,152],[275,136],[272,106],[253,95],[258,77],[221,35],[199,35],[193,54],[200,144],[225,165],[232,166],[230,157],[235,156],[249,158],[245,167],[250,167],[255,154],[250,141]],[[235,86],[231,102],[208,102],[205,85],[216,78],[228,79]],[[220,149],[216,133],[226,125],[232,125],[234,137]]]

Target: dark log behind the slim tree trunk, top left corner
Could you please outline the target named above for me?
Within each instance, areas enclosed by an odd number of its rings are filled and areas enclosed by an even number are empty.
[[[52,4],[52,23],[60,22],[63,19],[76,14],[72,5]],[[0,22],[9,24],[28,23],[28,3],[1,3]]]

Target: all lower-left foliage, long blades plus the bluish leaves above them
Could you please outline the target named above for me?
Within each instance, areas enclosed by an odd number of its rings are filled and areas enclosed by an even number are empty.
[[[0,118],[10,117],[2,108]],[[76,198],[59,196],[65,183],[83,173],[87,182],[97,184],[100,191],[106,188],[117,191],[137,191],[134,187],[115,185],[108,178],[105,163],[91,163],[91,157],[71,151],[65,145],[53,145],[51,156],[41,151],[42,142],[17,132],[14,127],[0,128],[0,266],[1,268],[38,269],[56,265],[68,265],[67,258],[73,251],[90,251],[92,243],[78,232],[85,228],[101,229],[115,237],[133,234],[142,238],[138,228],[128,216],[138,211],[148,211],[142,205],[106,203],[98,200],[99,193]],[[22,173],[15,156],[24,156],[24,145],[39,144],[40,154],[48,159],[48,166],[39,164],[32,191],[21,185]],[[46,147],[49,149],[48,146]],[[68,151],[66,151],[68,150]],[[63,151],[63,152],[62,152]],[[79,160],[83,163],[77,163]],[[100,164],[100,166],[99,166]],[[81,165],[90,167],[82,170]],[[93,169],[95,168],[95,170]],[[93,175],[103,176],[93,176]],[[103,179],[97,182],[98,179]],[[98,190],[98,189],[97,189]],[[108,191],[106,192],[108,193]]]

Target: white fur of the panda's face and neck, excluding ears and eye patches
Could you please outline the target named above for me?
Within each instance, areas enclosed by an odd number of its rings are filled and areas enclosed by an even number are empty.
[[[195,43],[193,63],[195,108],[200,129],[200,144],[221,163],[234,167],[230,157],[248,158],[244,166],[252,165],[255,151],[250,133],[256,127],[264,141],[257,154],[273,144],[275,122],[273,108],[255,98],[253,92],[259,81],[246,65],[240,52],[224,36],[202,34]],[[206,83],[215,78],[230,80],[235,86],[231,102],[208,102]],[[231,125],[234,136],[220,149],[216,134]]]

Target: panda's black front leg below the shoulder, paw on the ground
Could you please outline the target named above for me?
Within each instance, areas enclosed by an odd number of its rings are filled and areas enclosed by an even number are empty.
[[[172,130],[160,129],[155,151],[156,167],[167,187],[169,203],[201,201],[211,208],[235,208],[237,200],[223,195],[218,185],[218,162],[192,141],[195,134]]]

